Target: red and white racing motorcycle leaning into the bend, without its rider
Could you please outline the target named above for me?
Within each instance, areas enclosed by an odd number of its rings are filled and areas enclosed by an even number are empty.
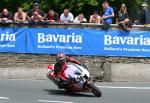
[[[60,74],[57,77],[54,75],[54,64],[47,67],[47,77],[58,86],[60,79],[64,79]],[[68,92],[91,92],[97,97],[101,97],[102,93],[91,80],[90,73],[83,66],[77,64],[68,64],[64,71],[68,80],[62,89]]]

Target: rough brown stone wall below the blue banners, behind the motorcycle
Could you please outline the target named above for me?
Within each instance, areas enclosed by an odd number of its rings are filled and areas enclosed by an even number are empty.
[[[103,80],[105,63],[150,64],[150,58],[131,57],[101,57],[101,56],[73,56],[87,65],[92,76]],[[0,53],[0,65],[3,68],[46,68],[49,63],[55,62],[54,55],[48,54],[17,54]]]

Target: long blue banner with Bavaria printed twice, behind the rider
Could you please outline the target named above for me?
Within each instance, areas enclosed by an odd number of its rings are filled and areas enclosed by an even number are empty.
[[[78,28],[29,28],[27,52],[150,57],[150,32]]]

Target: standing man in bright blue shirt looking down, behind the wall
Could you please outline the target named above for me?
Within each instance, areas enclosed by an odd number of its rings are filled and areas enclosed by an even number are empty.
[[[109,3],[106,1],[103,2],[102,7],[103,7],[103,12],[104,12],[102,16],[103,22],[112,24],[113,17],[115,16],[113,8],[110,7]]]

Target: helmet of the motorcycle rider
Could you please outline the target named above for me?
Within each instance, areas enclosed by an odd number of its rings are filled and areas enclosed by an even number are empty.
[[[66,62],[66,55],[63,52],[56,54],[56,62],[63,65]]]

